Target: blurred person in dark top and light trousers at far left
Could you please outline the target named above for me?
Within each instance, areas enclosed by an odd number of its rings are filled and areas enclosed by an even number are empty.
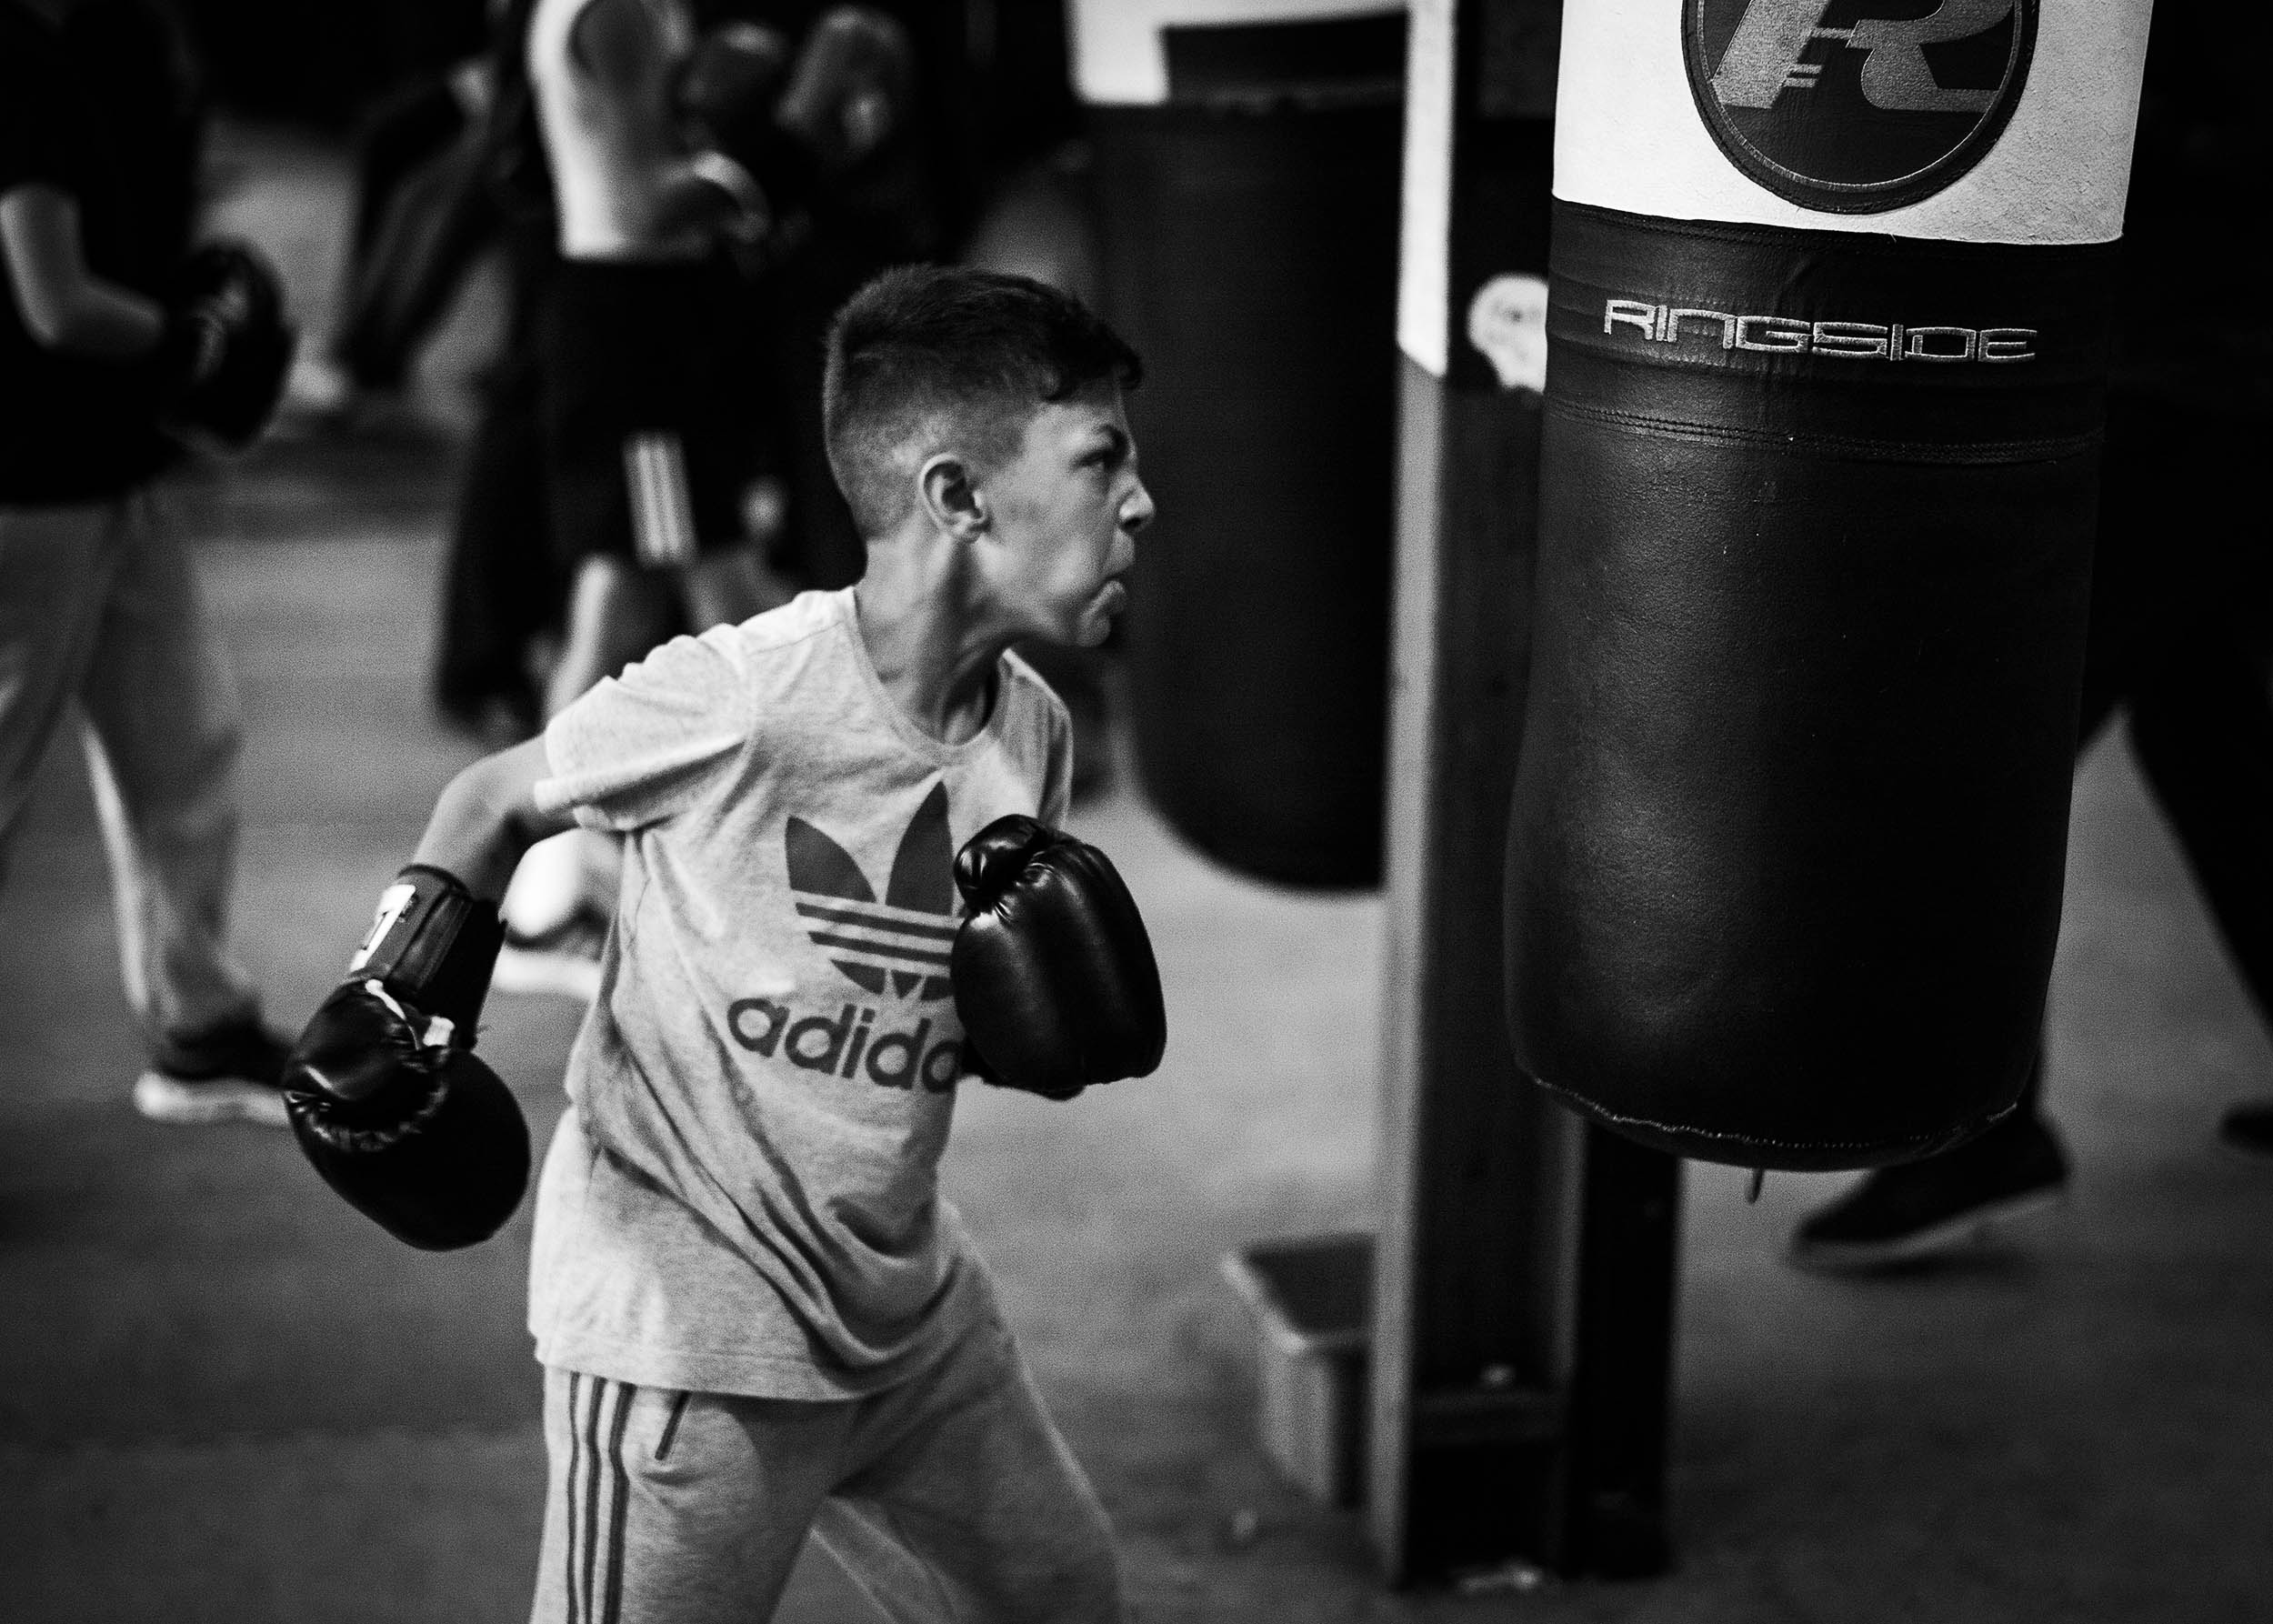
[[[166,523],[180,437],[250,439],[291,357],[243,250],[191,252],[202,105],[155,0],[0,0],[0,864],[82,721],[164,1121],[284,1121],[227,948],[236,691]]]

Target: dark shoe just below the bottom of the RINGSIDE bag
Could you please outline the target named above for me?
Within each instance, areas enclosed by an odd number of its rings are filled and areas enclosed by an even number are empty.
[[[2066,1185],[2059,1135],[2041,1117],[2014,1112],[1955,1151],[1868,1174],[1800,1224],[1791,1262],[1864,1274],[1957,1251],[1996,1224],[2055,1205]]]

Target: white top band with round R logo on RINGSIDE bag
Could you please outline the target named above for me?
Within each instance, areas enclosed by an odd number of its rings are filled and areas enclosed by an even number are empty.
[[[1850,230],[1968,243],[2121,237],[2146,0],[1943,0],[1912,20],[1875,9],[1873,0],[1573,0],[1555,196],[1673,221],[1812,230],[1855,212]],[[2005,52],[1980,48],[1996,30],[2021,34],[2003,64]],[[1962,84],[1937,77],[1964,68],[1982,71]],[[1971,166],[1916,202],[1880,209],[1857,191],[1846,205],[1825,196],[1802,207],[1732,161],[1712,130],[1721,121],[1737,141],[1743,125],[1766,130],[1757,166],[1782,159],[1796,175],[1789,191],[1802,193],[1812,177],[1868,189],[1943,155],[1964,164],[1971,155],[1953,150],[1987,139]],[[1937,139],[1923,125],[1964,134]]]

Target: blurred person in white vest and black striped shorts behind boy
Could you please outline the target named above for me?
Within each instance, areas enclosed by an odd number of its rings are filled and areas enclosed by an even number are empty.
[[[696,48],[682,0],[536,0],[527,18],[559,248],[527,339],[546,532],[568,580],[546,716],[677,625],[789,598],[746,519],[780,462],[748,287],[780,221],[748,164],[682,105]],[[786,45],[714,55],[707,114],[764,127]],[[591,996],[611,912],[607,837],[539,844],[505,898],[498,985]]]

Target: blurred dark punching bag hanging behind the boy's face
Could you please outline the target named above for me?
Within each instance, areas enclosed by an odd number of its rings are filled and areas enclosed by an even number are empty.
[[[1125,616],[1143,787],[1243,873],[1375,885],[1405,7],[1073,0],[1071,20],[1159,500]]]

